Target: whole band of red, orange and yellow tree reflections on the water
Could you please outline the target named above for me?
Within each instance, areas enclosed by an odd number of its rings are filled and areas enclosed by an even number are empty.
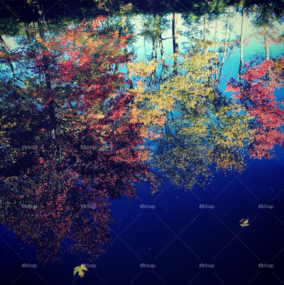
[[[68,238],[95,258],[110,242],[110,200],[136,197],[141,180],[153,193],[163,176],[193,190],[282,144],[283,56],[270,47],[283,45],[283,15],[210,3],[56,26],[28,1],[38,20],[1,19],[1,223],[37,245],[39,260],[57,259]],[[246,19],[256,34],[245,33]],[[263,52],[245,61],[251,38]],[[137,43],[151,47],[144,59]]]

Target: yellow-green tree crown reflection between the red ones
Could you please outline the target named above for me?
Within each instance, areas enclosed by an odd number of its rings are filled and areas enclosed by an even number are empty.
[[[156,126],[160,135],[154,164],[175,184],[192,189],[204,185],[210,165],[241,171],[251,132],[249,117],[214,87],[213,51],[204,53],[204,43],[195,43],[179,61],[178,74],[172,73],[159,89],[143,92],[143,81],[136,82],[140,97],[135,100],[141,120]],[[155,63],[140,62],[133,74],[147,80]],[[149,123],[150,114],[155,115]]]

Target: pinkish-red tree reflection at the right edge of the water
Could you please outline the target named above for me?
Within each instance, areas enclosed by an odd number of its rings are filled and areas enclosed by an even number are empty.
[[[237,102],[253,118],[250,126],[255,129],[255,135],[248,147],[253,157],[270,158],[274,145],[283,143],[283,103],[274,94],[275,86],[283,87],[277,72],[280,62],[277,59],[275,63],[272,60],[248,63],[240,83],[234,79],[227,82],[227,91],[233,92]],[[272,70],[270,77],[267,77],[268,70]]]

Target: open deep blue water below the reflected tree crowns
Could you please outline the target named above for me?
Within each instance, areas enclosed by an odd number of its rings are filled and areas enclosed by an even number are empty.
[[[277,147],[273,159],[249,159],[241,175],[217,173],[205,189],[185,192],[165,183],[152,196],[138,185],[141,200],[113,201],[113,243],[84,278],[73,277],[72,268],[88,256],[66,252],[61,263],[43,267],[35,246],[1,226],[2,284],[283,284],[283,171],[283,147]],[[243,218],[250,218],[244,228]]]

